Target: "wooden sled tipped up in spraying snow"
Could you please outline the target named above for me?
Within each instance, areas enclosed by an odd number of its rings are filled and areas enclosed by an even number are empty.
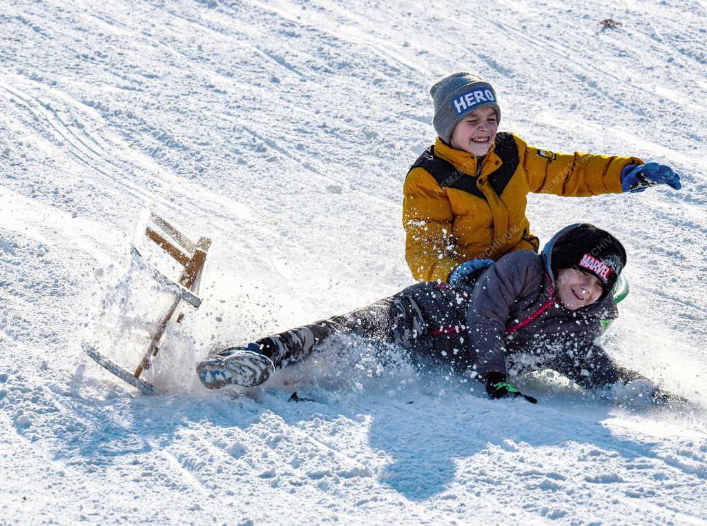
[[[96,361],[100,366],[107,371],[115,374],[122,381],[138,388],[145,394],[153,393],[153,385],[140,378],[140,376],[150,368],[151,361],[159,350],[160,344],[165,335],[170,321],[175,319],[175,323],[182,321],[183,314],[180,313],[175,317],[175,312],[182,301],[198,308],[201,305],[201,299],[197,296],[199,291],[199,282],[204,274],[204,265],[206,263],[206,253],[211,246],[211,239],[208,237],[199,237],[199,241],[194,243],[185,237],[180,230],[170,225],[169,222],[156,215],[152,210],[146,210],[139,222],[139,229],[136,233],[134,246],[130,249],[132,257],[136,262],[150,270],[150,273],[160,286],[169,292],[172,299],[168,307],[160,313],[157,321],[148,324],[151,330],[148,331],[148,345],[144,350],[144,354],[136,365],[134,371],[129,371],[122,366],[119,366],[115,361],[98,352],[95,346],[84,341],[81,344],[83,351],[90,358]],[[173,281],[163,273],[162,270],[155,268],[149,261],[143,258],[141,251],[138,249],[141,241],[144,238],[148,239],[148,245],[156,245],[159,247],[159,253],[166,252],[174,262],[176,267],[181,269],[179,277]],[[141,239],[143,238],[143,239]],[[152,245],[153,246],[153,245]],[[170,260],[171,261],[171,260]],[[173,263],[174,263],[173,262]]]

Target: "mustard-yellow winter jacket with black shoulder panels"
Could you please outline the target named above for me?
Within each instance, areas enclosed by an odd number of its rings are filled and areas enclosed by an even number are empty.
[[[525,217],[529,192],[596,196],[621,192],[621,169],[636,157],[552,153],[498,133],[482,158],[440,138],[412,165],[404,184],[405,257],[419,281],[446,281],[469,259],[537,251]]]

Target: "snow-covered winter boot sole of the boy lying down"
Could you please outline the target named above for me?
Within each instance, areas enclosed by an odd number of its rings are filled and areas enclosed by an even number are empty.
[[[197,365],[199,380],[209,389],[224,385],[255,387],[264,383],[274,370],[272,360],[262,354],[257,343],[211,353]]]

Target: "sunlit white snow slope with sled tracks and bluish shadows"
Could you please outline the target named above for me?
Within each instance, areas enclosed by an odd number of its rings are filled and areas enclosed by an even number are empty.
[[[679,192],[530,196],[528,213],[543,241],[580,220],[624,241],[632,292],[607,348],[705,405],[706,16],[703,0],[3,2],[0,522],[706,523],[699,410],[542,376],[521,379],[537,406],[486,400],[361,342],[245,396],[192,372],[411,282],[401,189],[434,137],[427,89],[471,69],[502,130],[682,174]],[[146,203],[214,238],[152,397],[81,351],[147,283],[128,253]]]

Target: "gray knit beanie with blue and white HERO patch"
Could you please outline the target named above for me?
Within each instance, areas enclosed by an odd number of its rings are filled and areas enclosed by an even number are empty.
[[[447,144],[457,122],[474,109],[490,106],[496,111],[496,119],[501,121],[501,108],[493,86],[474,73],[460,71],[440,78],[430,88],[430,95],[435,102],[432,124]]]

